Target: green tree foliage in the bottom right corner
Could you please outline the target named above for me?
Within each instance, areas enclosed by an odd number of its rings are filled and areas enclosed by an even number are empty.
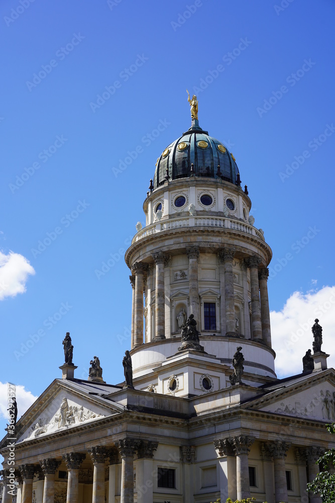
[[[335,434],[335,423],[326,425],[327,430],[332,435]],[[307,484],[308,491],[319,494],[323,503],[333,503],[335,501],[335,475],[329,472],[335,466],[335,449],[326,451],[317,463],[320,463],[322,471],[315,477],[313,482]]]

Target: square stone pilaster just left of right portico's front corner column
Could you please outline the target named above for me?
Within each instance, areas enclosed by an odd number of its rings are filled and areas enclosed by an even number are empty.
[[[227,438],[215,440],[214,446],[219,456],[219,488],[221,501],[226,501],[228,497],[235,501],[237,499],[237,486],[236,458],[233,442],[231,439]]]

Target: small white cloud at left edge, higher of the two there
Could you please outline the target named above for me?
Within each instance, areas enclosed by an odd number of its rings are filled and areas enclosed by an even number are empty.
[[[23,255],[0,251],[0,300],[24,293],[29,274],[34,275],[35,270]]]

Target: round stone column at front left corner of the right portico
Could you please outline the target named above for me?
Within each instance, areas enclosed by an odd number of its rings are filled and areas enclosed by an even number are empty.
[[[239,435],[233,437],[236,454],[237,499],[250,498],[248,454],[255,441],[254,437]]]

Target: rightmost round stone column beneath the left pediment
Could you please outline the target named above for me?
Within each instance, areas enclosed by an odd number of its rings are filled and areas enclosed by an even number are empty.
[[[122,459],[121,503],[134,503],[134,453],[139,445],[135,439],[114,442]]]

